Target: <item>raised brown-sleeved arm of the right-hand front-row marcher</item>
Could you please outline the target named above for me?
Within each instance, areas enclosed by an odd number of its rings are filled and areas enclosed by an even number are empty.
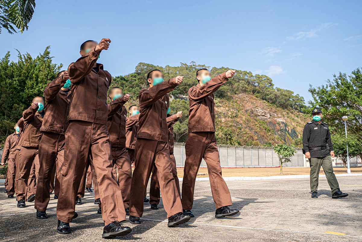
[[[193,101],[202,100],[218,90],[228,80],[226,72],[221,73],[220,75],[211,78],[210,81],[206,82],[202,86],[193,86],[190,88],[189,98]]]

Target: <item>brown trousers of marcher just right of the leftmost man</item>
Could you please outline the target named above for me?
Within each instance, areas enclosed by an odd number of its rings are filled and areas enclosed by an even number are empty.
[[[21,147],[18,162],[19,178],[16,186],[16,199],[26,199],[25,196],[35,194],[37,190],[36,179],[39,171],[38,149]],[[29,185],[28,185],[29,184]]]

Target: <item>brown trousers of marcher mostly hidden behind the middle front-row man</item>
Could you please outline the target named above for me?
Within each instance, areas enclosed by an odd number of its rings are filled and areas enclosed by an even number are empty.
[[[173,153],[170,154],[170,158],[171,158],[171,166],[172,166],[172,175],[176,182],[178,195],[181,198],[180,182],[178,181],[178,177],[177,177],[176,159],[175,159],[175,156],[173,155]],[[160,183],[157,178],[157,167],[153,166],[152,175],[151,175],[151,184],[150,184],[150,204],[159,204],[160,199],[161,199]]]

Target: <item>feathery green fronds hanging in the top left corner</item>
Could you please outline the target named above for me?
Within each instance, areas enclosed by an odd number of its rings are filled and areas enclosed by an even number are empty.
[[[20,33],[26,29],[33,17],[35,0],[0,0],[0,34],[1,29],[8,30],[10,34]]]

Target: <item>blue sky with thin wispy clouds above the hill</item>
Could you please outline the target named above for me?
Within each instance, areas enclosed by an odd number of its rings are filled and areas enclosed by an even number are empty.
[[[361,66],[362,1],[45,1],[29,30],[0,35],[0,56],[36,56],[51,46],[55,63],[79,58],[87,39],[110,38],[103,63],[112,76],[139,62],[195,61],[265,74],[275,86],[311,99],[333,73]]]

